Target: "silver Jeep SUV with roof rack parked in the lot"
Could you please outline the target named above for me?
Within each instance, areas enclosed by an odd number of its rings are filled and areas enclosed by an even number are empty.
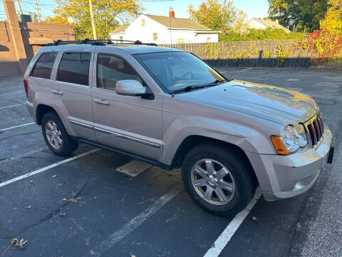
[[[222,216],[258,185],[267,201],[307,191],[332,160],[331,131],[309,96],[226,79],[179,49],[86,43],[39,49],[24,75],[53,153],[81,142],[181,167],[194,201]]]

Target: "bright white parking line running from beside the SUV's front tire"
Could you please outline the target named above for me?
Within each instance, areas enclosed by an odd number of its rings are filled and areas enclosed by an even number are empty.
[[[212,248],[210,248],[207,253],[204,254],[204,257],[217,257],[219,253],[223,250],[227,243],[230,241],[230,238],[237,231],[237,228],[242,224],[244,218],[247,217],[249,212],[254,207],[255,203],[257,203],[258,199],[261,196],[261,189],[258,187],[257,191],[255,191],[252,201],[248,204],[244,210],[237,213],[237,216],[233,218],[233,220],[228,224],[227,228],[219,235],[217,240],[213,243]]]

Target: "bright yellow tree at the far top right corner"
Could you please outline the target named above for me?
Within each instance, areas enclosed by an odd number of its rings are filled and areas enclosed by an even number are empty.
[[[329,0],[325,18],[321,21],[321,29],[342,32],[342,1]]]

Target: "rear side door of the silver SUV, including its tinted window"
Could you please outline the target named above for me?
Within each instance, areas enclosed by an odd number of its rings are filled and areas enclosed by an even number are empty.
[[[72,136],[95,141],[90,97],[93,51],[90,50],[88,47],[60,52],[50,87],[68,132]]]

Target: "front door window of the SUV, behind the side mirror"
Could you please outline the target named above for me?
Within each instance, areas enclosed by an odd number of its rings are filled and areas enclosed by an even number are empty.
[[[127,61],[110,54],[98,54],[98,87],[115,90],[116,82],[125,79],[144,82]]]

